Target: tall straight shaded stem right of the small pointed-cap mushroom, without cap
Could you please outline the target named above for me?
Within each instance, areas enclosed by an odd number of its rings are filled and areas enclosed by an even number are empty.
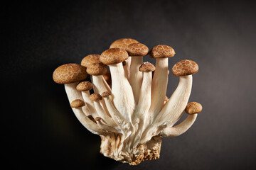
[[[152,123],[154,116],[161,111],[166,96],[168,83],[168,57],[156,59],[156,70],[152,80],[152,97],[149,108],[149,122]]]

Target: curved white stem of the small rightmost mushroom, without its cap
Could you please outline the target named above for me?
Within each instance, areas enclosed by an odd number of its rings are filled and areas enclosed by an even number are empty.
[[[185,120],[183,120],[182,123],[174,127],[168,126],[164,128],[164,130],[161,132],[161,135],[163,135],[164,137],[176,137],[183,134],[189,128],[191,128],[193,123],[196,121],[197,115],[198,115],[197,113],[193,115],[188,115],[188,117]]]

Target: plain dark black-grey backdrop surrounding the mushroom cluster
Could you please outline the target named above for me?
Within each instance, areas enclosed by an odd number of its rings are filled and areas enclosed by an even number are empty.
[[[27,168],[255,169],[255,7],[253,1],[1,4],[4,162]],[[196,123],[179,137],[164,138],[160,159],[138,166],[99,153],[100,137],[78,122],[64,87],[52,79],[56,67],[100,54],[119,38],[174,47],[169,69],[184,59],[200,68],[190,98],[203,105]],[[169,74],[167,96],[177,84]]]

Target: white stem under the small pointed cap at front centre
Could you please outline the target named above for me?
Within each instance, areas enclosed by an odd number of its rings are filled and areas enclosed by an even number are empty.
[[[133,146],[137,146],[139,144],[139,140],[144,130],[144,123],[148,121],[147,113],[149,111],[151,104],[151,81],[152,72],[143,72],[142,88],[140,89],[139,93],[139,103],[133,115],[133,124],[134,127],[136,128]]]

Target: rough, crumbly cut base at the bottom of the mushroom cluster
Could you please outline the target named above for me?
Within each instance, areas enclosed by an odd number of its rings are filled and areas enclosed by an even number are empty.
[[[159,159],[162,137],[154,136],[146,144],[130,149],[122,135],[101,135],[100,153],[122,163],[137,165],[145,160]]]

